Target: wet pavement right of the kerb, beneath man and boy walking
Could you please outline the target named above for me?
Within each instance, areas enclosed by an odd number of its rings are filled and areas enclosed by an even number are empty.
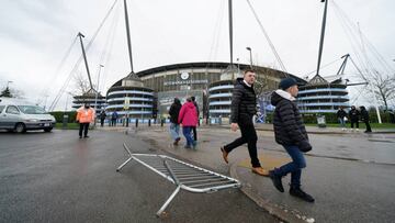
[[[203,164],[217,171],[229,168],[221,157],[219,146],[239,136],[225,129],[199,129],[196,150],[173,147],[166,129],[138,131],[142,137],[153,138],[163,149],[180,157]],[[274,142],[273,133],[259,132],[259,154],[286,157]],[[395,135],[394,134],[329,134],[309,135],[313,150],[306,156],[307,168],[302,176],[303,186],[316,198],[314,204],[278,192],[270,179],[252,175],[247,165],[246,147],[233,150],[230,165],[237,166],[238,179],[245,188],[264,201],[314,218],[317,222],[393,222],[395,219]],[[160,138],[160,140],[158,140]],[[182,140],[181,143],[184,141]],[[262,149],[263,148],[263,149]],[[264,165],[264,164],[263,164]],[[287,190],[290,177],[283,180]]]

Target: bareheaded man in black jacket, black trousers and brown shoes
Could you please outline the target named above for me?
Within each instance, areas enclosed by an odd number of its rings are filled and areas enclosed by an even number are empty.
[[[258,136],[252,122],[252,116],[257,113],[257,97],[253,91],[255,81],[256,74],[251,69],[245,70],[244,77],[236,79],[232,94],[230,130],[236,132],[237,129],[240,129],[241,137],[222,146],[221,152],[225,163],[228,164],[229,153],[236,147],[247,143],[252,172],[260,176],[268,176],[268,171],[261,167],[258,159]]]

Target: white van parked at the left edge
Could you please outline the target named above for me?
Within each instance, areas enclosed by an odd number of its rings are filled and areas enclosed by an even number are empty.
[[[0,98],[0,130],[24,133],[27,130],[50,132],[55,118],[41,107],[18,100]]]

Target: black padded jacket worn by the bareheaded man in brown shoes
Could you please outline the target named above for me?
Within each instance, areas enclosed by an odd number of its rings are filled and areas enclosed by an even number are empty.
[[[244,78],[237,78],[232,93],[232,123],[242,123],[245,120],[252,120],[257,113],[257,97],[253,86],[248,87]],[[242,119],[245,118],[245,119]]]

